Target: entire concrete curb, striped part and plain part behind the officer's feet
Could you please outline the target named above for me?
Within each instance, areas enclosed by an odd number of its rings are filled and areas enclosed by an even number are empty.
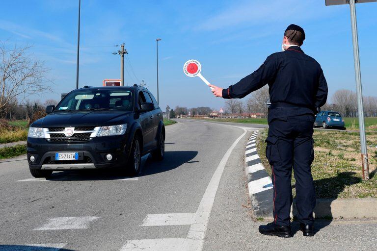
[[[245,149],[245,173],[251,208],[255,218],[273,219],[273,185],[256,148],[258,131],[253,131]],[[297,215],[296,201],[291,217]],[[377,198],[317,199],[315,218],[376,218]]]

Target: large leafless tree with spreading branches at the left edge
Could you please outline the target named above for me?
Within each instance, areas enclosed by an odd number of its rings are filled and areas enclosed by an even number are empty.
[[[30,47],[9,49],[0,42],[0,110],[11,100],[22,100],[35,93],[52,92],[46,78],[49,69],[27,54]]]

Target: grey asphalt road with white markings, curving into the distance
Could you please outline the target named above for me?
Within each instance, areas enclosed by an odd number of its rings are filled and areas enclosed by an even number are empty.
[[[253,128],[178,121],[166,127],[165,159],[144,157],[135,178],[65,171],[46,181],[25,156],[2,161],[0,251],[376,249],[376,221],[319,222],[313,238],[260,235],[243,164]]]

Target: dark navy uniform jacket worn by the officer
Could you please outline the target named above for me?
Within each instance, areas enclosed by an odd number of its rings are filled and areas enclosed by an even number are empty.
[[[224,99],[243,98],[269,85],[269,119],[314,114],[327,99],[327,83],[320,64],[300,47],[269,55],[258,70],[222,90]],[[267,100],[266,100],[267,101]]]

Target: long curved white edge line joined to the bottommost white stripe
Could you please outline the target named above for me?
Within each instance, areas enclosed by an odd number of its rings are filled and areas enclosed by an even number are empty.
[[[232,127],[241,128],[239,126]],[[207,189],[204,192],[202,200],[199,203],[198,209],[196,210],[196,213],[194,213],[194,220],[188,230],[187,237],[129,240],[123,245],[120,251],[201,251],[203,248],[203,242],[206,235],[208,222],[211,216],[212,206],[215,201],[216,192],[226,162],[228,161],[228,158],[233,149],[247,132],[246,128],[242,129],[242,135],[233,142],[233,144],[228,148],[224,156],[221,158],[220,163],[217,165],[215,173],[212,176],[210,183],[208,184]],[[175,219],[173,221],[178,222],[179,220]],[[155,221],[155,224],[156,223],[157,221]]]

